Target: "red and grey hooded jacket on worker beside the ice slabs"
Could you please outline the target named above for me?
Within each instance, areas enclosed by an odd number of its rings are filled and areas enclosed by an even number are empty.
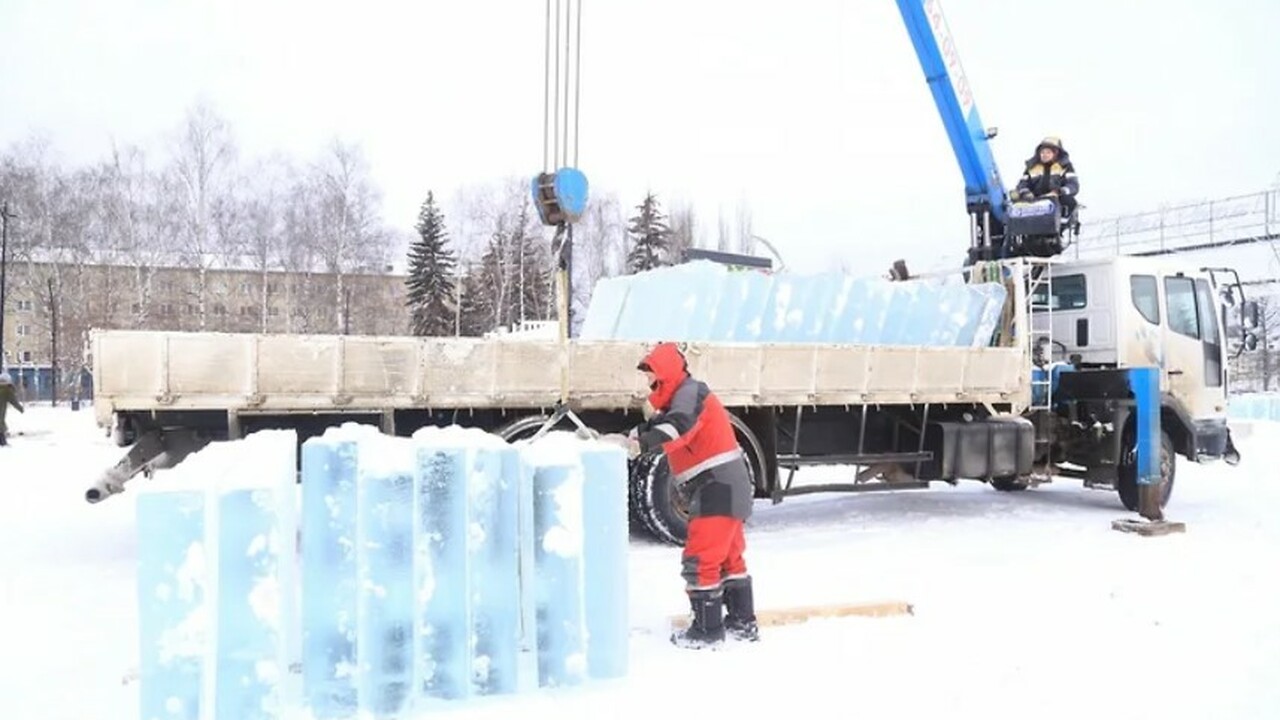
[[[669,342],[654,347],[639,368],[657,375],[649,395],[655,414],[639,428],[641,450],[662,447],[672,478],[691,496],[692,516],[750,516],[751,478],[719,398],[689,375],[685,356]]]

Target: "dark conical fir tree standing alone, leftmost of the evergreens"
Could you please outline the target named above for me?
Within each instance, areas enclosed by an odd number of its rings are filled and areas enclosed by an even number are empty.
[[[448,336],[454,332],[456,292],[453,272],[457,258],[447,245],[444,215],[435,196],[426,193],[417,214],[417,240],[408,249],[407,305],[416,336]]]

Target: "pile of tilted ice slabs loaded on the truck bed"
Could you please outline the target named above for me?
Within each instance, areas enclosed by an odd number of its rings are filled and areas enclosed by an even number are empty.
[[[596,282],[582,340],[986,346],[1001,283],[731,270],[708,260]]]

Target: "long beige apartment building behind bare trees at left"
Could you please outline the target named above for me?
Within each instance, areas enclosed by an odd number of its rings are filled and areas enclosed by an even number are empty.
[[[92,392],[90,331],[407,334],[404,275],[10,261],[4,366],[27,398]],[[77,387],[79,378],[79,387]]]

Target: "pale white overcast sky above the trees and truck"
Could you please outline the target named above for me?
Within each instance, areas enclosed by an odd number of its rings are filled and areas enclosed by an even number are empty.
[[[966,246],[893,0],[586,0],[580,165],[635,205],[740,201],[792,268]],[[1006,183],[1044,135],[1085,222],[1280,177],[1280,1],[945,0]],[[541,168],[541,0],[0,0],[0,145],[151,143],[206,99],[243,155],[360,142],[389,220]]]

